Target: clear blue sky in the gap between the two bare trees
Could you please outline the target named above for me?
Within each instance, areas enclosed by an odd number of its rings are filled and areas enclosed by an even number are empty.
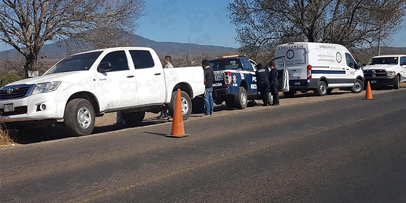
[[[159,42],[187,43],[190,37],[191,43],[237,48],[236,27],[226,16],[231,1],[149,0],[136,34]],[[406,47],[406,18],[390,46]],[[0,43],[0,50],[5,48]]]

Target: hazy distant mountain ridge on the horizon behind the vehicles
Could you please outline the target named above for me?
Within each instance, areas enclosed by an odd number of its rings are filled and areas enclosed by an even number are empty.
[[[150,47],[154,49],[159,57],[164,57],[165,55],[171,55],[173,58],[185,58],[192,53],[192,58],[199,55],[206,55],[208,57],[215,57],[219,54],[233,54],[236,53],[235,48],[231,47],[221,47],[221,46],[211,46],[211,45],[198,45],[198,44],[187,44],[187,43],[177,43],[177,42],[156,42],[143,38],[138,35],[130,36],[130,46],[133,47]],[[72,45],[72,44],[71,44]],[[190,52],[189,52],[190,47]],[[70,46],[73,49],[73,53],[94,50],[90,45],[81,46],[75,50],[74,46]],[[60,59],[68,54],[67,46],[63,43],[52,43],[46,44],[41,49],[41,55],[45,56],[47,59]],[[13,58],[21,57],[20,54],[15,49],[10,49],[7,51],[0,52],[0,58]]]

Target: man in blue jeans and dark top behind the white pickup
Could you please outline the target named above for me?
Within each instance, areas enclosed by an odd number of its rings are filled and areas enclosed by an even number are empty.
[[[214,109],[214,104],[213,104],[213,81],[214,81],[214,73],[212,68],[209,65],[208,60],[203,60],[201,61],[201,66],[204,69],[205,73],[205,85],[206,85],[206,91],[205,91],[205,106],[206,106],[206,113],[202,117],[208,117],[213,115],[213,109]]]

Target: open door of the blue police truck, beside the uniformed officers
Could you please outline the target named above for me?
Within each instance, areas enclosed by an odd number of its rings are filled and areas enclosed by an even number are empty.
[[[275,69],[278,70],[278,91],[289,91],[289,75],[288,69],[286,67],[285,57],[281,56],[272,59],[265,65],[265,69],[268,69],[268,71],[270,71],[270,66],[273,62],[275,63]]]

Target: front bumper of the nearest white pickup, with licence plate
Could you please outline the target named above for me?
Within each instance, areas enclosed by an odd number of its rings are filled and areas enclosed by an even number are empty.
[[[19,99],[0,100],[0,121],[6,123],[61,119],[63,118],[63,111],[62,114],[57,115],[58,103],[55,99],[56,95],[57,93],[53,91],[29,95]],[[14,104],[14,111],[4,112],[5,104]],[[41,108],[42,105],[45,105],[46,108]]]

